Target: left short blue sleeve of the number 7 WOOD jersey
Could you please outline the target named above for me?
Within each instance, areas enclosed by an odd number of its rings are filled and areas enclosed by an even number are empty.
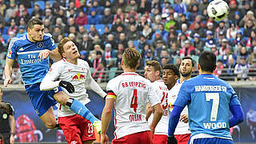
[[[188,86],[188,82],[183,82],[181,89],[178,91],[178,97],[174,102],[175,106],[182,106],[185,107],[186,104],[191,100],[190,97],[190,89],[191,87]]]

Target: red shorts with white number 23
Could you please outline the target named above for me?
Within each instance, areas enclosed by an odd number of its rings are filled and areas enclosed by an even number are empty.
[[[78,114],[59,117],[58,123],[63,130],[67,143],[82,143],[96,139],[93,124]]]

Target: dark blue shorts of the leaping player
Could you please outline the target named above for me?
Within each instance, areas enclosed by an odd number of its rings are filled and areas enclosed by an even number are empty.
[[[42,114],[45,114],[50,106],[54,106],[57,103],[54,100],[54,94],[62,91],[61,87],[56,88],[56,90],[41,91],[40,84],[41,82],[25,86],[26,93],[39,117],[41,117]]]

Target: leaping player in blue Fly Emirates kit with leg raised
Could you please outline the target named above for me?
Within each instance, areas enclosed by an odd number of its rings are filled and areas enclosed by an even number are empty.
[[[62,59],[61,54],[58,53],[58,47],[51,38],[51,34],[44,34],[42,20],[32,18],[27,23],[27,33],[10,41],[4,70],[4,86],[7,87],[12,82],[12,66],[14,59],[17,58],[26,92],[34,106],[34,110],[47,128],[56,126],[56,118],[54,117],[52,106],[57,102],[61,105],[69,106],[70,110],[90,120],[95,127],[101,126],[98,118],[95,118],[81,102],[74,98],[69,98],[62,92],[60,87],[57,90],[40,90],[40,83],[50,69],[48,56],[54,62]],[[69,93],[74,93],[74,86],[70,82],[60,81],[58,85],[65,88]]]

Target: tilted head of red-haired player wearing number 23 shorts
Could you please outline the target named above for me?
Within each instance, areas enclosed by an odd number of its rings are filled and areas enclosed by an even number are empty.
[[[78,47],[75,46],[74,42],[70,38],[63,38],[58,44],[58,52],[62,54],[63,58],[74,59],[79,58]]]

